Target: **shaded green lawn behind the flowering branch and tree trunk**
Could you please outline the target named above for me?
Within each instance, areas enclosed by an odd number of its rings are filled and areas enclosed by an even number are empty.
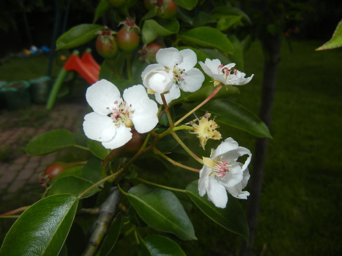
[[[339,160],[339,146],[342,145],[339,77],[342,50],[315,52],[314,49],[322,43],[294,41],[293,53],[285,43],[282,45],[270,127],[273,139],[269,142],[265,166],[255,255],[321,256],[342,251],[339,215],[342,208],[342,162]],[[7,61],[0,67],[0,80],[27,68],[23,62]],[[34,63],[27,66],[30,65]],[[36,72],[41,72],[44,65],[46,63]],[[240,87],[241,93],[235,98],[256,114],[260,103],[262,65],[260,45],[256,42],[245,61],[245,73],[248,76],[254,73],[255,77],[248,85]],[[33,76],[31,72],[21,71],[26,74],[23,79],[41,75]],[[233,137],[241,146],[254,151],[253,136],[230,127],[220,132],[224,138]],[[216,145],[210,143],[208,149]],[[181,186],[180,180],[197,178],[195,174],[180,174],[177,170],[168,173],[160,170],[153,175],[159,183],[173,186]],[[188,255],[238,254],[240,238],[218,227],[195,208],[192,212],[193,222],[208,221],[208,225],[195,226],[198,241],[178,241]],[[118,248],[125,248],[125,245],[119,242]]]

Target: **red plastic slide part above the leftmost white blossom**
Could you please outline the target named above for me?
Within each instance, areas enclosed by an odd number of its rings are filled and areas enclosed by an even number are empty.
[[[84,53],[82,58],[78,55],[71,55],[64,64],[64,69],[76,71],[89,84],[99,80],[100,65],[93,59],[91,53]]]

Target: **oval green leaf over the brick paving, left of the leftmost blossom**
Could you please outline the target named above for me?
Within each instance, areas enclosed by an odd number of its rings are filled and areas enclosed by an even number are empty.
[[[29,155],[45,155],[75,144],[76,138],[71,132],[58,129],[31,139],[25,150]]]

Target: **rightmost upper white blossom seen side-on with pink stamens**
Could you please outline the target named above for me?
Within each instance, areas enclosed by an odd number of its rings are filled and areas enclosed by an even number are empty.
[[[252,80],[254,74],[249,78],[245,78],[246,74],[233,69],[235,63],[230,63],[225,66],[221,64],[219,59],[206,59],[203,63],[198,62],[203,71],[212,79],[214,79],[214,85],[218,85],[220,82],[224,85],[244,85]],[[232,70],[233,69],[233,70]]]

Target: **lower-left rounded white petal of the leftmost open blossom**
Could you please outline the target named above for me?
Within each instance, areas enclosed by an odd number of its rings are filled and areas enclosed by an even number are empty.
[[[116,132],[115,124],[111,118],[95,112],[85,115],[83,130],[86,137],[97,141],[111,140]]]

